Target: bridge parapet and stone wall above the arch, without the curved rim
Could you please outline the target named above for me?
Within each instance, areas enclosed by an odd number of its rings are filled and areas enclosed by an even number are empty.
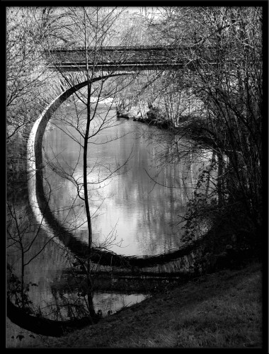
[[[183,49],[181,49],[182,57]],[[88,47],[88,65],[94,68],[94,77],[104,79],[111,76],[134,75],[144,70],[155,69],[179,69],[183,67],[183,61],[177,59],[179,51],[175,47]],[[69,91],[72,87],[86,85],[85,49],[83,47],[55,47],[43,53],[43,61],[40,63],[41,71],[44,66],[46,74],[42,76],[45,81],[45,89],[40,92],[40,104],[38,114],[47,105],[50,105],[56,97]],[[41,77],[41,76],[40,76]],[[73,91],[73,93],[76,89]],[[42,108],[41,108],[42,107]],[[41,108],[41,110],[40,110]],[[39,109],[39,112],[38,112]],[[13,156],[17,156],[16,163],[8,166],[8,173],[23,181],[25,179],[26,143],[33,128],[35,120],[26,124],[16,136],[16,144],[11,144]],[[9,147],[8,147],[9,149]],[[14,154],[14,149],[16,152]]]

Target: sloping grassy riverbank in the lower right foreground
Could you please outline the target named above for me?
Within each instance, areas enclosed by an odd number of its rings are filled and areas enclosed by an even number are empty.
[[[31,348],[261,348],[261,286],[261,263],[222,270]]]

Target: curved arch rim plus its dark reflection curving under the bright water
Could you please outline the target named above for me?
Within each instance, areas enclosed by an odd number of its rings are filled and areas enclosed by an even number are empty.
[[[106,77],[126,75],[127,73],[110,74],[107,76],[98,76],[93,79],[92,82],[105,79]],[[30,131],[30,136],[27,143],[27,172],[28,172],[28,198],[30,207],[32,208],[33,215],[38,224],[42,224],[42,227],[53,236],[53,241],[61,244],[65,248],[69,249],[71,253],[81,258],[84,258],[88,252],[88,245],[79,239],[76,239],[74,234],[69,232],[62,226],[62,224],[53,215],[48,200],[45,196],[45,190],[43,187],[43,164],[42,164],[42,138],[45,133],[47,122],[52,117],[52,113],[55,113],[57,108],[79,89],[86,86],[88,81],[83,81],[79,84],[67,89],[59,96],[57,96],[47,107],[42,111],[39,118],[35,121],[35,124]],[[185,261],[189,263],[188,254],[190,251],[200,249],[200,241],[195,241],[194,244],[183,246],[178,251],[171,253],[165,253],[156,256],[120,256],[112,251],[101,251],[100,249],[93,249],[92,261],[98,262],[101,265],[120,266],[122,268],[138,267],[141,270],[150,271],[149,269],[154,267],[158,268],[161,273],[166,273],[166,264],[173,264],[173,271],[181,271],[181,268],[185,268]],[[176,261],[176,264],[175,264]],[[148,270],[146,270],[146,268]],[[170,272],[169,272],[170,273]]]

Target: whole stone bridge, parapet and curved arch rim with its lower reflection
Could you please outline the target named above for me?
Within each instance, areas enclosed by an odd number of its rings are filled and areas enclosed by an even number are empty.
[[[158,66],[162,66],[164,69],[169,65],[175,68],[182,67],[183,61],[177,59],[175,53],[175,48],[171,47],[106,47],[105,49],[99,48],[98,51],[89,49],[89,66],[97,69],[97,71],[101,69],[101,72],[98,73],[98,76],[95,75],[92,81],[98,81],[105,77],[132,74],[137,70],[153,70]],[[51,52],[46,52],[45,55],[47,56],[47,67],[52,69],[57,67],[60,72],[67,72],[69,79],[66,80],[67,76],[65,79],[61,79],[61,75],[59,75],[56,81],[51,83],[54,91],[51,91],[45,100],[47,101],[47,107],[43,108],[41,114],[37,112],[37,119],[33,124],[30,124],[28,133],[25,135],[27,140],[25,163],[27,164],[28,198],[36,221],[57,236],[57,240],[62,246],[67,247],[76,256],[84,257],[87,251],[86,244],[76,240],[71,232],[68,232],[63,225],[59,224],[50,207],[48,207],[42,185],[42,137],[47,122],[59,105],[87,85],[88,81],[85,81],[85,55],[82,48],[69,48],[68,50],[55,48]],[[200,246],[200,243],[197,242],[195,245],[186,246],[169,255],[149,258],[123,257],[110,252],[95,250],[96,259],[93,262],[96,261],[96,263],[105,267],[112,265],[125,270],[139,268],[140,271],[146,273],[175,273],[190,270],[190,267],[193,267],[195,256],[192,251],[196,249],[199,254]]]

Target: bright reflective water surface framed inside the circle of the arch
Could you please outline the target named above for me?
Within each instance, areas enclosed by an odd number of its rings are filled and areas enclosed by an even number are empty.
[[[52,161],[52,169],[64,169],[81,183],[82,153],[74,141],[79,141],[79,133],[63,121],[66,115],[70,120],[71,114],[74,115],[71,105],[57,111],[52,120],[57,127],[47,130],[43,147],[47,160]],[[168,145],[173,137],[168,132],[130,120],[117,120],[113,118],[115,110],[102,114],[109,115],[111,126],[90,139],[88,148],[93,241],[101,244],[113,234],[117,239],[110,250],[131,256],[176,249],[181,244],[182,232],[175,225],[180,220],[178,215],[185,213],[188,198],[193,195],[200,161],[195,164],[189,153],[181,161],[176,159],[164,164],[158,156],[163,151],[169,153]],[[98,120],[93,122],[96,127]],[[150,138],[147,132],[151,133]],[[125,166],[116,176],[103,181],[122,164]],[[84,203],[78,198],[74,184],[50,167],[45,169],[53,190],[50,208],[65,227],[87,241]],[[82,190],[80,193],[83,196]],[[115,243],[120,240],[119,247]]]

